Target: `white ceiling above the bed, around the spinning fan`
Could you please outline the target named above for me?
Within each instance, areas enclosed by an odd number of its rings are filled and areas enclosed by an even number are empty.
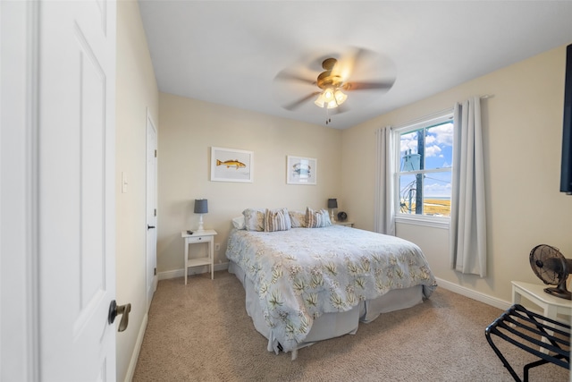
[[[315,79],[324,57],[353,47],[377,54],[350,81],[395,75],[387,91],[348,92],[345,129],[501,67],[572,42],[571,1],[139,0],[160,91],[324,124],[315,91],[276,81]],[[360,94],[358,94],[360,93]]]

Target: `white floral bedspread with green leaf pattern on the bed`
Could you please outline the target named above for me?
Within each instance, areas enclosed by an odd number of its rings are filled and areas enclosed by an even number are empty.
[[[391,289],[436,288],[424,254],[394,236],[332,225],[289,231],[233,230],[226,257],[253,282],[284,352],[304,342],[315,318],[350,310]]]

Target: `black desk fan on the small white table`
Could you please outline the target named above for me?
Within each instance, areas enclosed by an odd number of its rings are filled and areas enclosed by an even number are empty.
[[[534,275],[547,285],[558,285],[556,288],[545,288],[544,292],[553,296],[572,300],[572,293],[566,288],[568,273],[572,271],[572,259],[565,259],[558,248],[540,244],[530,251],[530,267]]]

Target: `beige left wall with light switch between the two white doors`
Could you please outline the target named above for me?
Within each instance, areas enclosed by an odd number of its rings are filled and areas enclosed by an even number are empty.
[[[117,380],[125,380],[139,352],[146,323],[146,139],[147,108],[156,127],[158,90],[135,1],[117,2],[116,289],[117,303],[131,303],[129,327],[117,334]],[[128,191],[121,192],[121,174]],[[140,341],[140,338],[139,338]]]

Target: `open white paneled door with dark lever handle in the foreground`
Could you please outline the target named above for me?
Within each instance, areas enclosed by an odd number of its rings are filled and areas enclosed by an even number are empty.
[[[39,2],[38,47],[39,380],[112,381],[114,2]]]

